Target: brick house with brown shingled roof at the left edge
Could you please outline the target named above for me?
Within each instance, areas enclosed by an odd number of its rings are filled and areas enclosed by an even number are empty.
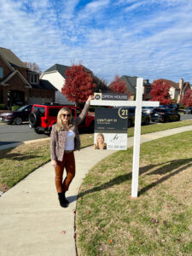
[[[0,103],[13,106],[55,102],[55,90],[10,49],[0,48]]]

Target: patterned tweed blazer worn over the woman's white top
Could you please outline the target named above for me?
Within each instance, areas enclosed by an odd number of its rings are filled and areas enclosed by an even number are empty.
[[[77,119],[72,119],[72,125],[69,125],[69,130],[74,131],[74,150],[80,150],[80,137],[78,125],[83,121],[90,107],[89,103],[84,104],[84,109],[79,114]],[[66,147],[67,130],[64,128],[61,131],[56,131],[56,124],[52,126],[50,134],[50,157],[51,160],[63,160],[64,150]]]

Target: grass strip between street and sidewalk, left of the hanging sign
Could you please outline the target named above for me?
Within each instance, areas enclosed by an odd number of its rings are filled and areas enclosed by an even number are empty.
[[[91,134],[80,137],[81,148],[93,143]],[[0,191],[5,192],[50,160],[49,141],[0,150],[0,159]]]

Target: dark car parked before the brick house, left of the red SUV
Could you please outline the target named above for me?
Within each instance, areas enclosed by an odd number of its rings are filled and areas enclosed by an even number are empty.
[[[32,112],[32,105],[23,106],[16,111],[10,111],[0,114],[0,120],[3,123],[21,125],[22,122],[28,121],[29,114]]]

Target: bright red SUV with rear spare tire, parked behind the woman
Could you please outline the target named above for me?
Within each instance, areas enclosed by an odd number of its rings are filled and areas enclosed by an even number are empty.
[[[60,105],[56,103],[46,103],[44,105],[34,104],[32,113],[29,115],[29,127],[33,128],[38,134],[50,134],[52,125],[56,123],[57,113],[61,108],[70,108],[73,117],[77,118],[81,113],[80,108],[74,106]],[[86,114],[83,122],[79,125],[79,130],[94,131],[95,116]]]

